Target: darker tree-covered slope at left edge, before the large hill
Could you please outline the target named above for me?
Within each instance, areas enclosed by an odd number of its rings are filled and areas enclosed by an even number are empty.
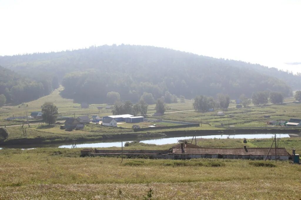
[[[5,96],[5,103],[35,100],[49,94],[52,89],[52,82],[48,79],[37,78],[33,80],[25,78],[0,66],[0,95],[1,97]]]

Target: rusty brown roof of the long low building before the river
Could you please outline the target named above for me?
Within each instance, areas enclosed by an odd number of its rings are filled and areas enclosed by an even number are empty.
[[[267,155],[270,148],[174,148],[174,154]],[[268,155],[275,156],[275,149]],[[285,148],[277,148],[277,156],[289,156]]]

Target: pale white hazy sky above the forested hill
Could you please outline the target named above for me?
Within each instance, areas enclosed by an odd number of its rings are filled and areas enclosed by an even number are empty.
[[[137,44],[301,72],[301,1],[0,0],[0,55]]]

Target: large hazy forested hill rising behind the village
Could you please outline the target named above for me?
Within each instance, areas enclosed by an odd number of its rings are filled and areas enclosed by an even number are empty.
[[[280,91],[289,95],[291,86],[300,88],[293,74],[281,80],[266,67],[241,61],[216,59],[152,46],[112,45],[73,51],[0,56],[0,65],[37,78],[57,77],[65,97],[78,102],[100,103],[107,92],[119,92],[122,100],[137,101],[143,92],[154,99],[166,91],[177,96],[217,93],[237,98],[254,91]],[[275,70],[274,70],[275,71]],[[282,74],[283,72],[277,72]],[[285,72],[284,72],[285,73]]]

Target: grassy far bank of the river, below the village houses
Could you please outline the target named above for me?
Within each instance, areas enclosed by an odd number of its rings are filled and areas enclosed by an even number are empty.
[[[210,136],[210,135],[237,135],[237,134],[258,134],[258,133],[287,133],[293,136],[301,136],[301,129],[219,129],[200,130],[195,127],[181,128],[177,130],[153,130],[148,132],[133,132],[132,129],[121,129],[115,127],[104,127],[89,124],[85,130],[65,131],[59,126],[31,126],[26,128],[26,135],[20,127],[8,127],[9,135],[0,146],[20,145],[51,145],[59,143],[70,143],[74,139],[77,142],[108,142],[123,140],[147,140],[163,137],[185,137],[185,136]]]

